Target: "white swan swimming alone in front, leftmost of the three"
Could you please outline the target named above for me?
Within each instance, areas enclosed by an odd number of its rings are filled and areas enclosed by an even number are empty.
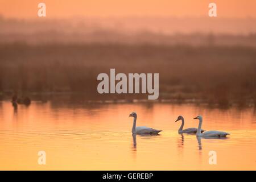
[[[157,135],[162,130],[155,130],[151,127],[138,126],[136,127],[137,114],[135,112],[131,113],[129,117],[133,117],[133,129],[131,130],[133,134],[150,134]]]

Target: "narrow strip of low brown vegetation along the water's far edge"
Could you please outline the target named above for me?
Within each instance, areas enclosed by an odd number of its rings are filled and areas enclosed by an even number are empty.
[[[147,107],[152,107],[154,104],[167,104],[167,105],[194,105],[198,107],[206,107],[208,109],[256,109],[256,104],[254,100],[247,100],[246,102],[236,102],[234,100],[229,100],[228,104],[221,104],[217,102],[209,102],[208,100],[202,99],[182,99],[179,98],[170,98],[170,99],[158,99],[158,100],[147,100],[143,98],[111,98],[111,97],[102,97],[102,98],[89,98],[86,94],[83,93],[29,93],[30,99],[32,100],[31,104],[40,103],[47,104],[51,103],[54,106],[61,105],[80,105],[81,107],[99,107],[100,105],[122,105],[122,104],[139,104],[145,105]],[[1,102],[10,102],[11,104],[11,94],[0,93],[0,104]],[[13,105],[14,109],[17,110],[17,105]],[[25,105],[26,107],[30,105]]]

